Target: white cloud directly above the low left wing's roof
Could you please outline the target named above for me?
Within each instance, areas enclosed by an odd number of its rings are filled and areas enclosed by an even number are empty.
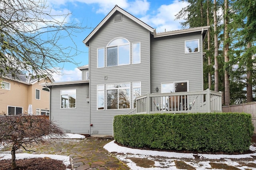
[[[52,74],[55,82],[69,82],[82,80],[82,71],[78,68],[74,70],[62,70],[61,73]]]

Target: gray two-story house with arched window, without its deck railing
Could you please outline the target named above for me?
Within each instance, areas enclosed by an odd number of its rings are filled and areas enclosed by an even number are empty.
[[[203,91],[208,29],[156,33],[115,6],[83,41],[89,48],[89,65],[80,67],[83,79],[47,84],[50,119],[66,132],[112,135],[114,116],[131,111],[138,96]]]

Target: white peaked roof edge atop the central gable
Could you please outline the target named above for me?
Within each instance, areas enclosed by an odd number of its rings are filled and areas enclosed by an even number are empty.
[[[138,23],[139,25],[141,25],[142,27],[144,27],[145,29],[147,29],[148,31],[150,31],[152,34],[154,33],[154,28],[150,27],[149,25],[147,25],[146,23],[142,22],[141,20],[139,20],[138,18],[134,17],[133,15],[129,14],[128,12],[126,12],[125,10],[123,10],[122,8],[118,7],[117,5],[110,11],[110,13],[108,13],[108,15],[97,25],[96,28],[94,28],[94,30],[84,39],[83,43],[85,45],[89,45],[89,41],[90,39],[96,34],[96,32],[114,15],[114,13],[118,11],[121,14],[125,15],[126,17],[130,18],[132,21]]]

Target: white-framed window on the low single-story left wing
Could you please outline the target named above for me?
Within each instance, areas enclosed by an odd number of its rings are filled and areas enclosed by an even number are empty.
[[[76,108],[76,89],[60,90],[61,108]]]

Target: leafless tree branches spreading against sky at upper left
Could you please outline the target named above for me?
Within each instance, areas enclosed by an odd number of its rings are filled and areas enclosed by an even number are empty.
[[[70,22],[70,13],[52,11],[44,0],[0,0],[0,77],[22,72],[41,78],[59,72],[60,63],[77,64],[72,57],[80,51],[72,37],[84,27]]]

